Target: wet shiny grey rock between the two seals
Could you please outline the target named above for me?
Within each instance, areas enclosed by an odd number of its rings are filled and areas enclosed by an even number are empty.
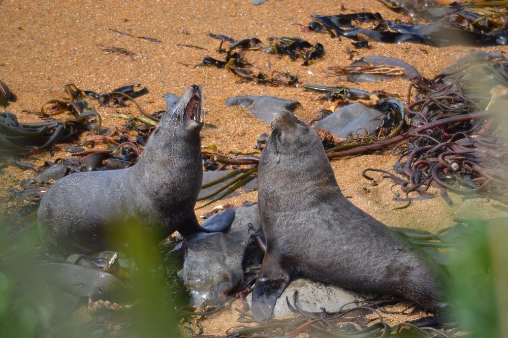
[[[214,217],[219,217],[221,214]],[[230,213],[230,212],[228,212]],[[250,234],[249,224],[260,227],[258,205],[236,209],[228,233],[198,233],[184,242],[183,268],[178,276],[190,290],[190,305],[218,305],[226,297],[221,293],[243,276],[242,261]]]

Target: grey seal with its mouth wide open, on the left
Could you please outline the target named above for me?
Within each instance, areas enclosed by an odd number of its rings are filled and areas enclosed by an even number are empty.
[[[201,102],[199,86],[189,86],[163,114],[132,167],[58,180],[39,207],[43,248],[111,250],[133,221],[161,240],[176,230],[184,236],[211,232],[199,226],[194,214],[203,178]]]

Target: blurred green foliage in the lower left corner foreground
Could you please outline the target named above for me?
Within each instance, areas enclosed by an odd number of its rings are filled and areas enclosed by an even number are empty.
[[[7,228],[5,222],[2,228]],[[2,230],[3,230],[2,229]],[[37,228],[15,243],[0,239],[0,337],[178,336],[175,309],[169,294],[157,243],[131,224],[130,259],[135,273],[129,294],[118,301],[128,310],[90,313],[88,299],[55,291],[31,268],[45,258],[38,250]]]

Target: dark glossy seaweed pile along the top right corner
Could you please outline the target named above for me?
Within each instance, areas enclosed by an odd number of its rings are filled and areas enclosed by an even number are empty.
[[[383,0],[391,9],[410,14],[417,23],[395,23],[379,13],[316,15],[307,30],[328,31],[337,37],[384,42],[416,42],[435,47],[508,44],[508,10],[499,2],[441,7],[432,1]],[[492,4],[492,5],[490,5]],[[419,23],[422,22],[422,23]],[[371,28],[362,28],[371,24]]]

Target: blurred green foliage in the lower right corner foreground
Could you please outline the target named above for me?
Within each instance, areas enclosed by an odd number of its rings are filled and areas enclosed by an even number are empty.
[[[507,221],[468,222],[450,254],[456,315],[474,337],[508,336]]]

